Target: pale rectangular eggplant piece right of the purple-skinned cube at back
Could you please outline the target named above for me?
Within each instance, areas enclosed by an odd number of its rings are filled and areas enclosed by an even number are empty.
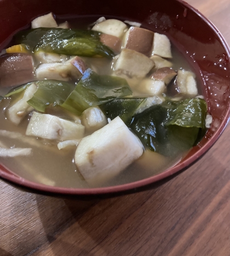
[[[158,55],[163,58],[172,58],[171,44],[168,37],[154,33],[152,55]]]

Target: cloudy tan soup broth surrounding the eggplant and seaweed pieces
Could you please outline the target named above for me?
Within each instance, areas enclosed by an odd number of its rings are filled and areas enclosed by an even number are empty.
[[[69,21],[71,28],[85,29],[89,26],[91,18],[85,19],[84,25],[78,25],[78,20]],[[14,41],[9,46],[14,45]],[[171,45],[172,59],[166,58],[166,60],[172,63],[171,69],[186,70],[193,72],[194,70],[188,61],[185,59],[178,49],[174,45]],[[108,58],[90,58],[83,56],[82,59],[90,63],[92,69],[98,75],[113,75],[113,65],[114,59]],[[111,68],[112,67],[112,68]],[[148,72],[149,74],[149,72]],[[124,78],[124,76],[122,76]],[[127,81],[129,81],[129,78]],[[49,79],[49,78],[48,78]],[[139,78],[133,78],[137,83],[140,83]],[[175,79],[175,78],[174,78]],[[34,79],[36,80],[36,79]],[[79,79],[72,80],[73,86],[76,86]],[[199,79],[196,79],[198,94],[202,93],[200,89]],[[171,82],[172,83],[172,82]],[[130,86],[131,87],[131,86]],[[140,93],[135,89],[136,87],[131,87],[134,96],[145,96],[144,93]],[[11,88],[0,87],[0,95],[5,95],[9,92]],[[195,96],[197,96],[195,95]],[[152,95],[151,95],[152,96]],[[162,95],[160,95],[162,96]],[[163,97],[166,100],[183,100],[186,98],[191,98],[188,95],[178,94],[174,95],[166,91],[163,93]],[[201,96],[202,98],[202,96]],[[26,129],[28,123],[30,122],[32,113],[29,113],[18,125],[12,124],[9,118],[7,118],[6,110],[9,107],[10,98],[5,98],[0,102],[0,129],[7,130],[9,132],[15,132],[18,134],[6,135],[0,132],[0,148],[4,147],[7,149],[13,148],[27,148],[32,149],[31,156],[16,156],[16,157],[0,157],[0,163],[11,170],[16,175],[20,177],[34,181],[36,183],[42,183],[45,185],[59,186],[59,187],[72,187],[72,188],[88,188],[88,187],[102,187],[102,186],[114,186],[126,183],[131,183],[133,181],[145,179],[153,175],[164,172],[167,168],[174,166],[178,163],[182,157],[184,157],[188,149],[179,150],[175,155],[174,152],[167,152],[162,155],[159,152],[151,151],[145,145],[145,152],[143,155],[126,167],[122,172],[113,177],[112,179],[105,180],[101,182],[96,180],[93,183],[88,183],[83,178],[82,174],[79,172],[76,163],[74,163],[74,154],[76,152],[76,146],[69,146],[66,149],[58,149],[58,142],[53,139],[42,139],[36,136],[27,136]],[[100,107],[100,106],[99,106]],[[45,113],[56,113],[56,110],[47,109]],[[61,118],[67,118],[71,120],[72,117],[66,116],[67,114],[62,111],[58,113]],[[141,115],[141,114],[139,114]],[[84,136],[92,134],[93,132],[86,131]],[[21,134],[21,136],[20,136]],[[11,138],[12,137],[12,138]],[[14,138],[13,138],[14,137]],[[165,149],[167,150],[167,149]],[[119,164],[119,162],[114,163]]]

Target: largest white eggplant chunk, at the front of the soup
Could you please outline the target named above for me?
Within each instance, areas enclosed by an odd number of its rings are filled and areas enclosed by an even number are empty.
[[[120,117],[83,138],[75,153],[75,163],[87,183],[110,180],[143,153],[140,140]]]

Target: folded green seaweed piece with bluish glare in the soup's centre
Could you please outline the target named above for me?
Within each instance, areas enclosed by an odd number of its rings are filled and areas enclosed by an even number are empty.
[[[88,69],[62,107],[79,115],[89,107],[132,94],[125,79],[107,75],[100,76]]]

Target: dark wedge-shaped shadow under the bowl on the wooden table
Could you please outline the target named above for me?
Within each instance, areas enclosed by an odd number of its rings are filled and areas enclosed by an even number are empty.
[[[64,203],[59,209],[53,205],[51,211],[46,211],[47,207],[49,207],[49,202],[47,200],[44,201],[43,196],[37,195],[36,200],[39,216],[44,227],[45,236],[47,237],[46,246],[57,256],[70,256],[72,255],[70,252],[76,252],[74,255],[95,255],[93,248],[85,246],[87,243],[84,243],[83,240],[86,239],[88,245],[101,244],[100,249],[105,255],[109,255],[108,253],[110,252],[106,252],[109,248],[106,246],[103,248],[103,241],[110,239],[113,232],[131,214],[136,212],[148,198],[156,193],[158,187],[176,178],[181,172],[157,183],[117,194],[95,195],[93,197],[45,197],[53,198],[54,201],[59,200]],[[160,200],[159,202],[164,201],[164,194],[161,194],[158,200]],[[157,211],[159,206],[158,200],[152,205],[153,212],[155,210]],[[118,205],[123,207],[122,211],[119,210]],[[50,219],[55,219],[55,221],[52,220],[50,222]],[[141,225],[141,220],[140,222],[135,222],[135,226],[137,227],[138,225]],[[124,237],[124,239],[126,238]]]

